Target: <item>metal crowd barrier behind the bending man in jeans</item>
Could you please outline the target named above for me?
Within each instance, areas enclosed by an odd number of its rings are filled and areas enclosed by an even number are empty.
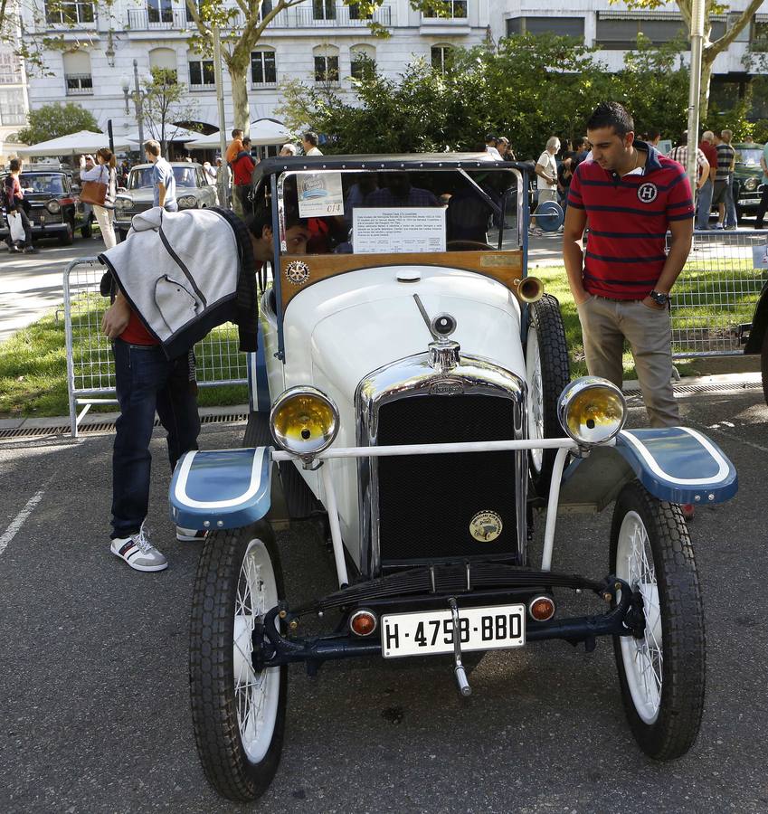
[[[101,317],[109,298],[99,291],[104,266],[95,257],[73,260],[64,270],[64,336],[67,345],[67,389],[73,438],[93,404],[117,404],[115,361]],[[237,327],[214,328],[194,346],[197,383],[201,387],[247,384],[247,355],[238,350]],[[78,410],[80,409],[80,412]]]

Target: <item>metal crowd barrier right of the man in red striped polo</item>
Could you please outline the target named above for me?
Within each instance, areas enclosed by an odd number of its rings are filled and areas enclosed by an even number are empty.
[[[757,250],[758,267],[754,262]],[[768,232],[694,232],[693,249],[672,289],[672,355],[739,356],[739,326],[752,322],[768,265]]]

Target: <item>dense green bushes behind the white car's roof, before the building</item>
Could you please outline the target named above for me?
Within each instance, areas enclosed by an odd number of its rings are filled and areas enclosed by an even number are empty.
[[[397,79],[356,80],[357,100],[296,80],[281,85],[277,111],[289,128],[326,133],[327,152],[442,152],[484,148],[507,136],[518,157],[540,155],[549,136],[573,140],[602,99],[616,99],[638,132],[677,137],[687,118],[688,71],[680,44],[640,41],[623,71],[610,73],[595,49],[554,35],[523,34],[453,52],[445,72],[413,62]]]

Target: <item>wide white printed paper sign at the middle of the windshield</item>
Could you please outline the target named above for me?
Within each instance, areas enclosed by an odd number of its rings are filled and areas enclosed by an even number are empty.
[[[445,251],[445,209],[419,206],[405,209],[356,207],[352,227],[356,254],[405,251]]]

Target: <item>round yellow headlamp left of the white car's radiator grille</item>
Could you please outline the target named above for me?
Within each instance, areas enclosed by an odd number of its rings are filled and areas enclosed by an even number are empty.
[[[270,430],[281,450],[317,455],[337,436],[338,409],[315,387],[290,387],[271,409]]]

